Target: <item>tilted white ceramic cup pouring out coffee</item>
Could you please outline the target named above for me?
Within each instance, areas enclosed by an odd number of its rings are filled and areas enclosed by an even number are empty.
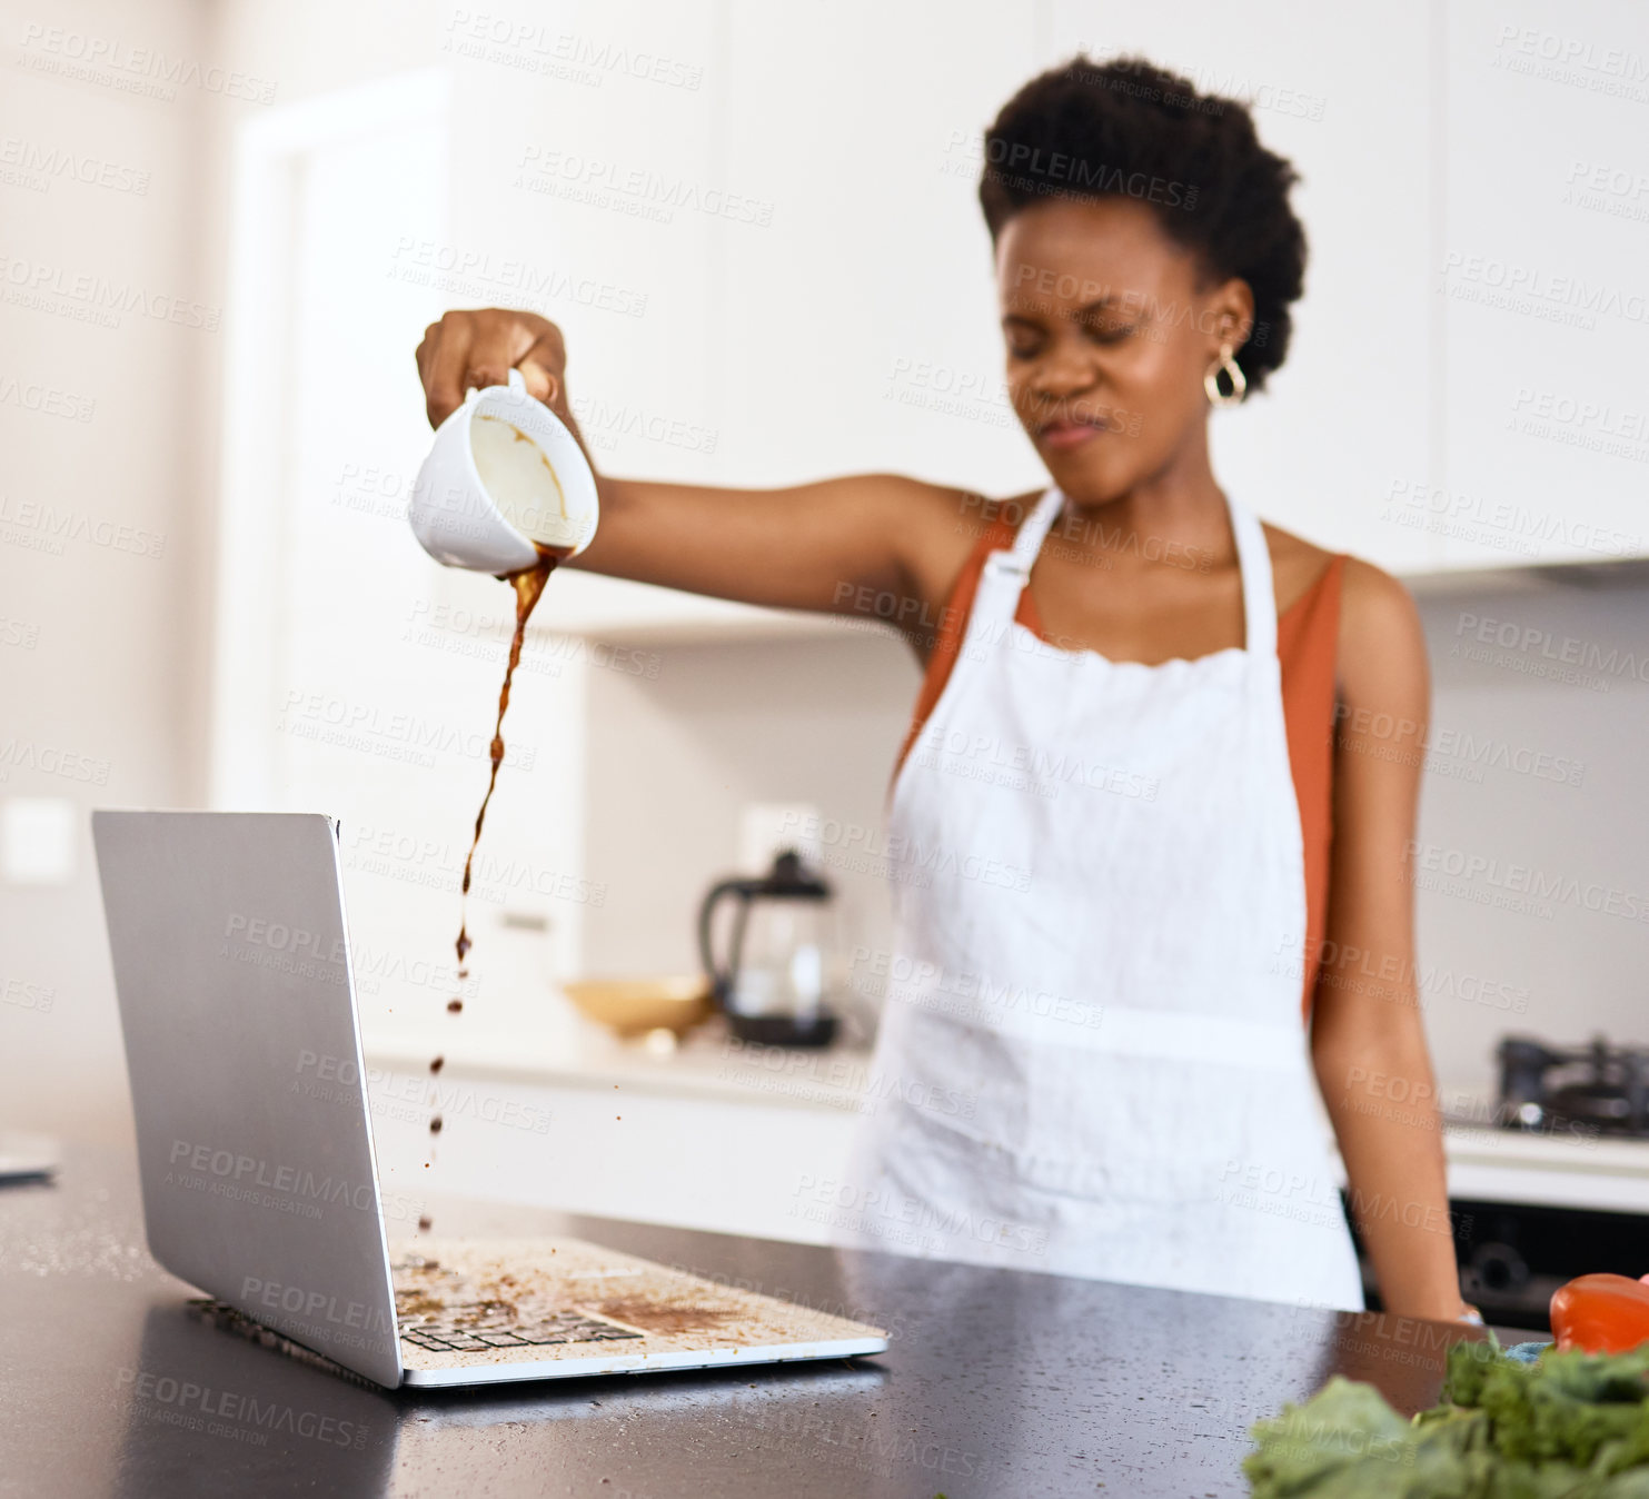
[[[577,556],[595,534],[595,475],[556,414],[510,384],[470,391],[435,429],[407,519],[449,567],[503,576],[539,562],[533,543]]]

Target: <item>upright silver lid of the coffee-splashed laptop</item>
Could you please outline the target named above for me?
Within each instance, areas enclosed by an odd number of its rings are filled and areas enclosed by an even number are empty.
[[[401,1384],[336,823],[94,811],[92,839],[150,1253]]]

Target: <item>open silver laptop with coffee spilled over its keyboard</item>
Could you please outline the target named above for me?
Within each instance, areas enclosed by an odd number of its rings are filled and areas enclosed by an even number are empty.
[[[338,823],[94,811],[92,839],[148,1248],[219,1324],[384,1387],[887,1349],[879,1327],[584,1240],[391,1245]]]

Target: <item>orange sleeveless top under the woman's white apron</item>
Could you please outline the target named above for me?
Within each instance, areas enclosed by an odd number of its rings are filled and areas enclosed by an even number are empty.
[[[966,630],[973,595],[980,587],[980,572],[993,551],[1012,546],[1014,528],[1006,518],[996,521],[980,538],[951,585],[950,600],[940,617],[938,640],[928,656],[922,691],[917,694],[910,731],[899,747],[897,765],[902,765],[910,745],[915,744],[933,704],[938,703],[950,670],[956,665],[961,637]],[[1347,552],[1336,552],[1322,576],[1306,589],[1276,620],[1276,655],[1283,665],[1283,719],[1288,726],[1288,764],[1294,773],[1294,796],[1299,801],[1299,828],[1306,851],[1306,943],[1304,986],[1299,996],[1299,1013],[1311,1016],[1311,993],[1316,988],[1318,968],[1322,958],[1322,930],[1329,895],[1329,844],[1334,838],[1334,666],[1339,655],[1339,595],[1341,574],[1346,571]],[[1031,590],[1019,594],[1014,618],[1039,638],[1047,640],[1037,618]],[[1050,641],[1052,643],[1052,641]],[[897,775],[897,765],[894,773]]]

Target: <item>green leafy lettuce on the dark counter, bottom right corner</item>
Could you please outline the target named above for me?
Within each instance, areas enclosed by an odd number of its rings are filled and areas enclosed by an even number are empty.
[[[1649,1346],[1524,1362],[1458,1342],[1412,1421],[1334,1375],[1252,1433],[1255,1499],[1649,1499]]]

